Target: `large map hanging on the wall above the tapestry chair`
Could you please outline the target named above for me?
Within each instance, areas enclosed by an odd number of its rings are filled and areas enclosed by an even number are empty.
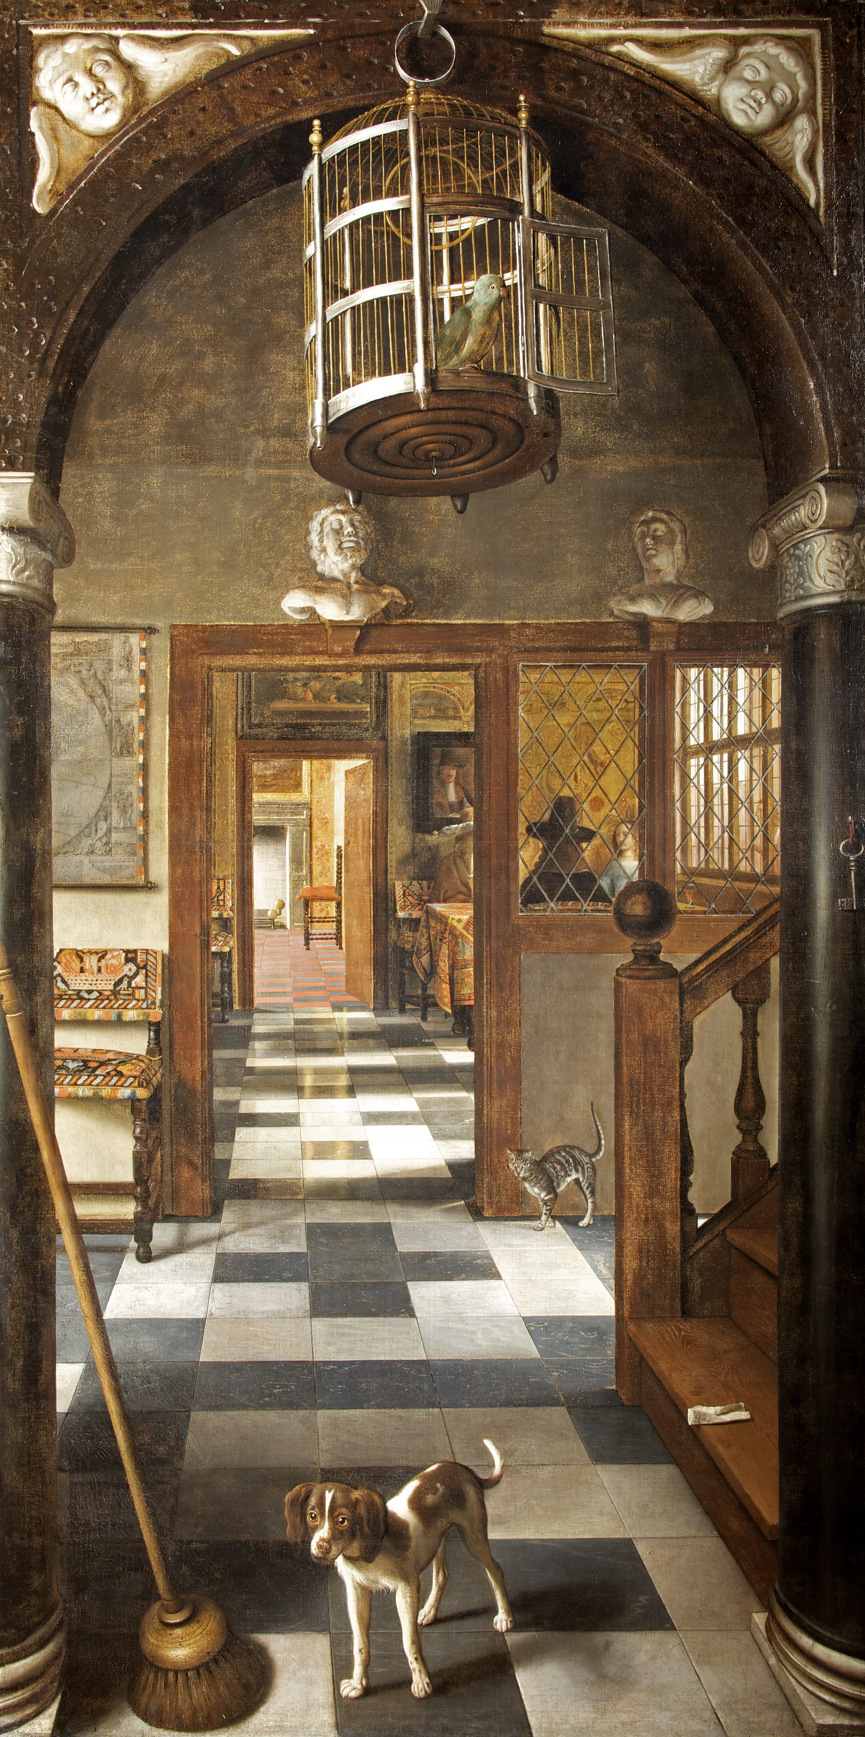
[[[144,631],[50,636],[54,886],[146,886]]]

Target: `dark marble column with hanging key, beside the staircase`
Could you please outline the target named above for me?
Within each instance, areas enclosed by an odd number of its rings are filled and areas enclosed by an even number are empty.
[[[778,1582],[766,1636],[848,1730],[865,1716],[865,525],[825,481],[752,538],[778,558],[782,676]],[[865,865],[865,855],[863,855]]]

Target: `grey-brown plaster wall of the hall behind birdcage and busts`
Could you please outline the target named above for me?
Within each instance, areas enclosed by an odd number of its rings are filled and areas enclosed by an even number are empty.
[[[561,201],[559,215],[575,210]],[[462,518],[448,500],[368,497],[379,528],[372,570],[413,598],[415,618],[606,620],[608,598],[639,578],[631,526],[648,505],[672,507],[688,521],[688,578],[714,598],[717,617],[773,613],[769,582],[747,563],[747,532],[766,507],[766,485],[743,384],[683,285],[624,233],[611,231],[610,241],[620,391],[563,398],[556,485],[533,476],[474,495]],[[222,217],[134,297],[83,386],[61,488],[78,556],[56,575],[57,622],[158,629],[146,771],[155,888],[57,891],[56,945],[167,950],[168,627],[281,620],[288,582],[307,571],[309,516],[339,495],[306,457],[299,261],[297,186]],[[410,717],[410,695],[399,703]],[[405,778],[406,769],[403,752],[391,771]],[[391,874],[401,870],[408,842],[403,822],[391,837]],[[556,1006],[554,995],[535,992],[537,964],[525,968],[532,1034],[544,1027],[544,1007]],[[565,985],[577,962],[542,964]],[[598,1004],[608,964],[594,968]],[[544,1073],[556,1075],[551,1101],[559,1110],[544,1122],[535,1087],[526,1087],[526,1143],[556,1115],[568,1133],[571,1110],[580,1127],[585,1120],[568,1098],[561,1032],[552,1035]],[[64,1039],[92,1042],[94,1030],[69,1027]],[[551,1054],[559,1056],[556,1070]],[[530,1047],[530,1073],[533,1058]],[[610,1124],[611,1108],[603,1115]],[[87,1106],[75,1126],[69,1150],[85,1164]],[[610,1211],[611,1197],[601,1199]]]

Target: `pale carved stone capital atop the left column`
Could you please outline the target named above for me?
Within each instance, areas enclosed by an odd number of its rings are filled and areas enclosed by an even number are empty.
[[[54,615],[54,568],[71,561],[73,528],[38,476],[0,472],[0,598]]]

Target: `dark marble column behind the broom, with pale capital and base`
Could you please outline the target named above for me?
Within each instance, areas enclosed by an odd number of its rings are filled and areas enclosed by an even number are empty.
[[[49,1100],[52,568],[73,556],[42,483],[0,474],[0,936]],[[54,1211],[0,1020],[0,1730],[50,1706],[64,1657],[54,1362]]]

